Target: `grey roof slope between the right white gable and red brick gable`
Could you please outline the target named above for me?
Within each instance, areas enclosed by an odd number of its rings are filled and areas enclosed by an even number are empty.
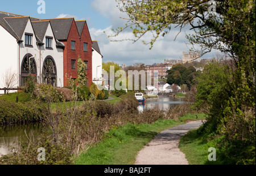
[[[43,19],[49,20],[53,33],[57,40],[67,40],[69,31],[71,29],[72,22],[74,18],[62,18],[62,19]]]

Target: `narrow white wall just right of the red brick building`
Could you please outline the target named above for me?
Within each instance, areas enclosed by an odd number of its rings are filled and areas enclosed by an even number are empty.
[[[94,50],[92,53],[92,79],[97,80],[101,78],[102,78],[102,55],[98,53],[96,50]]]

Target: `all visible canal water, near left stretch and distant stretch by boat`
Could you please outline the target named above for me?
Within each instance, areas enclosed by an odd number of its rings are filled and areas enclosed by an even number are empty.
[[[146,109],[158,108],[168,110],[179,104],[183,104],[183,98],[176,97],[159,97],[147,100],[145,105],[139,105],[138,110],[142,112]],[[0,126],[0,157],[10,153],[10,149],[18,147],[20,140],[28,140],[31,134],[36,137],[43,130],[39,123],[28,125]]]

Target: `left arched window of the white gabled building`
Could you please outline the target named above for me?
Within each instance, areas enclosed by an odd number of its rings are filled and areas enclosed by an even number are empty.
[[[35,62],[35,59],[32,58],[32,54],[26,54],[22,61],[22,66],[21,66],[22,87],[25,86],[25,84],[27,83],[29,74],[35,76],[35,81],[36,81],[36,76],[37,76],[36,62]]]

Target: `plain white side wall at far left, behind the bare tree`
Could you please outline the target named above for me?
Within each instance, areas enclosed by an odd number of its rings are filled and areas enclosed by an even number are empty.
[[[0,88],[5,87],[2,78],[7,69],[17,74],[18,81],[18,44],[16,39],[0,25]],[[18,85],[18,82],[17,82]],[[0,94],[3,94],[0,91]]]

